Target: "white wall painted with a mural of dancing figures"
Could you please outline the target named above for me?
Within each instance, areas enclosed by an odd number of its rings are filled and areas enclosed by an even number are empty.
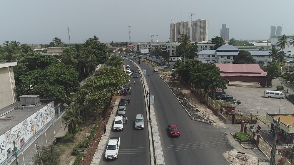
[[[38,112],[17,124],[0,136],[0,163],[13,154],[13,142],[20,149],[39,130],[55,117],[54,102],[50,102]]]

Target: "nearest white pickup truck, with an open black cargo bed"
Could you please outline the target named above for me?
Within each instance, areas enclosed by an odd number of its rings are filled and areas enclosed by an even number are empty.
[[[120,147],[121,139],[119,137],[111,137],[108,141],[108,146],[105,151],[105,159],[117,159],[118,149]]]

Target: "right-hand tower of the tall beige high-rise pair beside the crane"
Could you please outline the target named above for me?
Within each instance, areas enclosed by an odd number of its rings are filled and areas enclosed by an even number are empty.
[[[192,21],[192,42],[208,41],[208,20]]]

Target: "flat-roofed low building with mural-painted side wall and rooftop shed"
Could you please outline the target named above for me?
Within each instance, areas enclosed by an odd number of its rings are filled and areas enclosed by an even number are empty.
[[[0,116],[0,163],[16,164],[14,143],[19,164],[30,164],[36,154],[36,145],[52,144],[61,127],[64,104],[40,100],[40,95],[23,95],[21,101],[2,108]],[[64,132],[61,136],[64,136]]]

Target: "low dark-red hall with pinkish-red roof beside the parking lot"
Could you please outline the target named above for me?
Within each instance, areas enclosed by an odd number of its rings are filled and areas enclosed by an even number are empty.
[[[265,78],[267,73],[261,70],[258,64],[216,63],[216,68],[219,68],[220,75],[229,81],[257,82],[262,86],[271,83],[271,80]]]

